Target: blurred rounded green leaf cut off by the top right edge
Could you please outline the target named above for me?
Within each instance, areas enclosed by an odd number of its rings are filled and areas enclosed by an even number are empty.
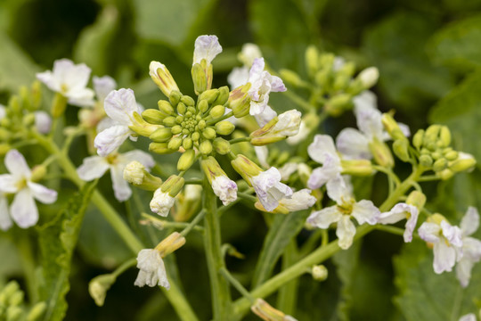
[[[428,53],[438,64],[471,70],[481,66],[481,15],[455,21],[440,29],[428,43]]]

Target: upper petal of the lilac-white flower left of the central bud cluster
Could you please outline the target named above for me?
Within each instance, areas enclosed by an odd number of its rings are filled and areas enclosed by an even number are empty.
[[[122,88],[111,91],[105,98],[103,107],[111,119],[126,126],[134,123],[134,112],[140,113],[132,89]]]

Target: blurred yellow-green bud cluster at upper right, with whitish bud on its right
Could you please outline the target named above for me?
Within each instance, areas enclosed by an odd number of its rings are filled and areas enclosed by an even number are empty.
[[[355,76],[355,63],[345,62],[333,53],[320,53],[314,45],[306,49],[307,83],[292,70],[281,70],[281,77],[290,85],[314,90],[318,106],[330,116],[338,116],[353,107],[353,98],[374,86],[379,70],[370,67]]]

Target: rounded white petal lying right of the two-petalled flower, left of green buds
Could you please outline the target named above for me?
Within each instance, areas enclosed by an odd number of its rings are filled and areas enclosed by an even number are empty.
[[[369,139],[357,129],[342,129],[336,138],[336,145],[338,151],[346,156],[346,159],[371,160],[372,158]]]

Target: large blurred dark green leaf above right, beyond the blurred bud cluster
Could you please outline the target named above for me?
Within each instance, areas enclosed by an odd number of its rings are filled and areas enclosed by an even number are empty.
[[[431,66],[424,49],[439,24],[427,15],[396,12],[364,34],[363,49],[379,68],[379,86],[404,111],[419,114],[452,87],[448,70]]]

